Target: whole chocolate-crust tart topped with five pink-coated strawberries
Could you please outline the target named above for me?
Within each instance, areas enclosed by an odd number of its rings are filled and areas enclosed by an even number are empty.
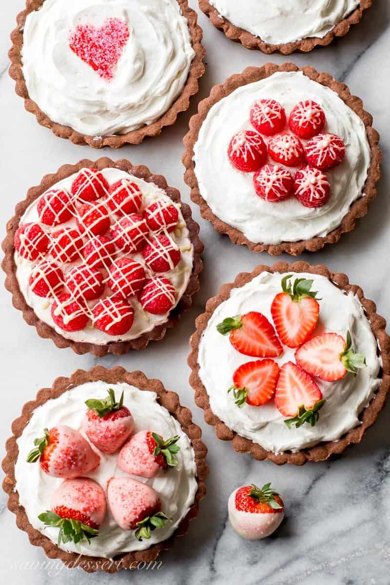
[[[135,569],[184,535],[205,493],[207,449],[159,380],[77,370],[28,402],[2,463],[8,508],[51,559]]]

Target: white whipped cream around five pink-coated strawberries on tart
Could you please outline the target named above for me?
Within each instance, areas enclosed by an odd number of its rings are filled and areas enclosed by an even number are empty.
[[[26,463],[26,458],[32,449],[34,439],[42,436],[45,427],[68,425],[80,431],[87,439],[82,430],[82,421],[87,411],[84,402],[88,398],[105,398],[108,388],[113,388],[118,397],[122,390],[124,391],[123,404],[130,409],[134,417],[134,433],[151,430],[164,438],[180,435],[177,467],[168,469],[167,472],[161,470],[156,477],[149,480],[132,476],[143,483],[146,482],[157,491],[162,510],[172,519],[171,522],[166,522],[164,528],[153,531],[149,540],[144,539],[140,542],[134,536],[134,531],[125,531],[116,524],[107,507],[105,520],[99,528],[99,535],[91,540],[91,545],[81,542],[80,550],[73,543],[66,545],[62,543],[60,546],[64,550],[81,552],[83,555],[112,558],[119,553],[147,549],[169,538],[187,515],[198,489],[195,455],[191,442],[177,420],[167,409],[158,404],[156,393],[141,391],[125,383],[107,384],[103,381],[95,381],[73,388],[36,408],[29,424],[18,439],[19,456],[15,464],[15,489],[19,493],[19,502],[25,508],[30,524],[57,543],[58,529],[45,528],[38,519],[38,515],[50,510],[51,494],[63,480],[48,476],[42,471],[39,463]],[[91,447],[96,450],[94,445]],[[103,490],[106,490],[106,483],[110,477],[129,477],[116,466],[118,452],[113,455],[99,452],[99,455],[101,457],[99,467],[88,473],[87,477],[97,481]]]

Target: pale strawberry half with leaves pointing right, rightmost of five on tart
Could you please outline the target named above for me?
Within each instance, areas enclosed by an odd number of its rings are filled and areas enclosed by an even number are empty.
[[[309,374],[329,382],[341,380],[347,371],[356,376],[365,366],[365,356],[352,349],[349,331],[347,341],[337,333],[317,335],[296,350],[295,359]]]

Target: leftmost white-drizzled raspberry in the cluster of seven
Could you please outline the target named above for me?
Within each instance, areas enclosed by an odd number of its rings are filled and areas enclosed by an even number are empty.
[[[265,163],[267,147],[258,132],[241,130],[230,140],[227,156],[239,171],[252,173]]]

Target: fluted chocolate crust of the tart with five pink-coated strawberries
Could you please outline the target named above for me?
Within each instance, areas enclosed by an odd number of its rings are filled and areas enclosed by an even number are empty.
[[[170,538],[157,543],[146,550],[122,553],[111,560],[102,557],[93,557],[79,555],[77,553],[66,552],[58,548],[47,536],[44,536],[30,524],[25,508],[19,504],[19,494],[15,491],[15,463],[18,459],[18,445],[16,439],[22,435],[30,421],[32,412],[35,408],[47,402],[51,398],[57,398],[64,392],[67,392],[75,386],[80,386],[85,382],[103,380],[109,384],[125,382],[132,384],[140,390],[151,390],[157,393],[158,402],[165,407],[170,414],[180,423],[182,430],[191,440],[195,452],[196,472],[198,481],[198,490],[195,494],[195,501],[188,511],[187,516],[182,519],[180,525]],[[114,367],[110,370],[95,366],[89,371],[76,370],[70,378],[60,377],[54,380],[51,388],[42,388],[36,396],[36,400],[27,402],[22,410],[22,416],[12,423],[13,436],[6,442],[6,456],[2,462],[2,468],[6,474],[3,481],[3,489],[8,494],[8,508],[16,515],[16,524],[20,530],[27,532],[29,540],[34,546],[40,546],[50,559],[60,559],[68,567],[80,567],[88,573],[94,573],[103,570],[106,573],[116,573],[119,569],[136,569],[140,562],[152,562],[157,559],[161,550],[168,550],[172,547],[174,539],[177,536],[187,534],[189,521],[194,519],[199,512],[199,501],[205,497],[206,484],[209,469],[206,465],[207,448],[201,441],[202,431],[199,426],[192,422],[192,413],[188,408],[180,405],[179,397],[176,393],[165,390],[160,380],[149,380],[141,371],[127,372],[123,367]]]

